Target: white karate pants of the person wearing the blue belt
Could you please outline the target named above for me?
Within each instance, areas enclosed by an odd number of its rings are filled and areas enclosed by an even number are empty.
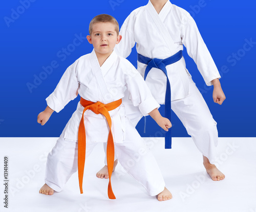
[[[189,94],[187,97],[172,101],[172,110],[181,120],[187,133],[193,138],[198,150],[209,159],[211,164],[217,161],[218,130],[217,123],[212,118],[209,108],[204,101],[194,81],[189,77]],[[136,126],[142,114],[138,107],[129,100],[129,93],[122,99],[125,114]],[[104,145],[106,152],[106,146]],[[115,158],[116,159],[116,158]],[[105,159],[106,164],[106,159]]]

